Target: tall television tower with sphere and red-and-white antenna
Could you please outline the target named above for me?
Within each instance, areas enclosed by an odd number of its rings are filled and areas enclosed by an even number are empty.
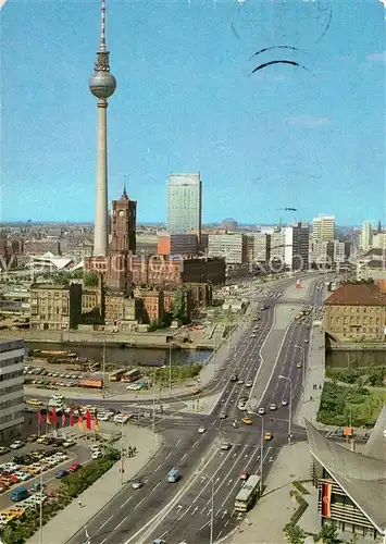
[[[105,0],[101,0],[100,47],[94,74],[89,77],[89,89],[98,98],[97,136],[97,194],[94,232],[94,256],[108,254],[108,98],[116,89],[115,77],[110,73],[109,51],[105,47]]]

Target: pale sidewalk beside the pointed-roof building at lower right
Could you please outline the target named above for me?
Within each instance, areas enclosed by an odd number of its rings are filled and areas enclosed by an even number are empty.
[[[311,455],[306,442],[284,446],[275,460],[274,469],[265,480],[266,487],[263,496],[240,523],[240,532],[235,531],[233,535],[221,542],[226,544],[284,544],[288,542],[283,529],[298,508],[295,497],[289,496],[289,492],[294,489],[291,483],[310,478],[310,463]],[[308,486],[308,491],[311,491],[311,487]],[[307,500],[311,497],[312,495],[307,495]],[[307,529],[317,532],[320,530],[317,508],[310,504],[306,514],[308,515]],[[313,542],[313,539],[310,542]]]

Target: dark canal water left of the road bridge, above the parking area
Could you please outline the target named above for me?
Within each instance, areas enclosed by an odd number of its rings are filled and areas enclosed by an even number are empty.
[[[84,344],[43,344],[26,343],[27,349],[63,350],[77,354],[78,357],[87,357],[92,361],[102,360],[102,346],[85,346]],[[210,350],[204,349],[172,349],[172,364],[190,364],[192,362],[204,362],[210,356]],[[121,348],[119,346],[105,347],[105,361],[117,367],[149,366],[162,367],[169,363],[169,349],[146,348]]]

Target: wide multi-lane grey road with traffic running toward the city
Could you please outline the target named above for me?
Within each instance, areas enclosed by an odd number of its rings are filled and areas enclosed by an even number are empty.
[[[321,284],[321,280],[316,284]],[[309,327],[295,321],[285,331],[281,348],[275,360],[262,360],[265,343],[273,326],[275,305],[284,287],[271,289],[272,297],[265,302],[269,309],[261,311],[259,332],[251,336],[253,324],[246,326],[240,342],[235,345],[223,364],[220,380],[214,391],[222,393],[210,416],[184,415],[182,418],[159,418],[157,430],[161,430],[165,445],[160,454],[142,470],[146,483],[140,490],[130,485],[123,487],[119,495],[88,526],[91,544],[151,543],[162,537],[167,544],[188,544],[208,542],[211,519],[211,502],[213,485],[213,533],[214,537],[226,534],[237,523],[233,514],[234,500],[241,486],[240,473],[260,473],[261,455],[263,458],[263,478],[273,465],[278,448],[288,441],[289,406],[282,401],[292,401],[292,408],[301,395],[302,353],[295,346],[307,347],[304,339]],[[320,302],[320,289],[313,284],[309,292],[308,304]],[[317,299],[317,300],[316,300]],[[264,301],[263,301],[264,302]],[[260,302],[261,304],[261,302]],[[277,353],[277,346],[276,346]],[[265,378],[267,372],[267,379]],[[244,425],[244,416],[237,408],[241,396],[249,390],[244,384],[231,383],[229,376],[236,373],[239,380],[253,380],[252,392],[256,408],[265,408],[263,418],[251,413],[252,425]],[[292,397],[289,398],[288,380],[292,382]],[[264,381],[263,390],[261,383]],[[254,393],[251,395],[253,396]],[[274,403],[277,410],[270,411]],[[220,412],[226,412],[226,419],[220,419]],[[237,426],[233,423],[238,421]],[[271,442],[264,442],[261,448],[261,425],[264,432],[273,435]],[[198,433],[204,426],[204,434]],[[292,429],[294,440],[303,437],[301,429]],[[229,450],[222,450],[223,441],[232,444]],[[178,467],[180,481],[166,483],[166,473],[172,467]],[[75,535],[70,543],[84,542],[84,532]]]

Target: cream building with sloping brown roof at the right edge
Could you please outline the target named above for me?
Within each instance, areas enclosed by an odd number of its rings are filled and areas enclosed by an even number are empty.
[[[347,284],[324,302],[324,326],[341,341],[384,341],[386,294],[373,283]]]

